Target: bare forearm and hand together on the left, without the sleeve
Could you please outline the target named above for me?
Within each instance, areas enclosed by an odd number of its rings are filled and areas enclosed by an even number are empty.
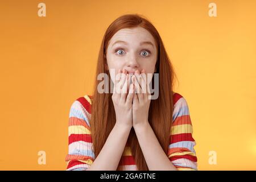
[[[121,70],[118,71],[121,73]],[[117,121],[115,126],[109,134],[104,146],[102,147],[100,154],[89,168],[89,170],[117,170],[121,156],[125,149],[125,144],[130,134],[132,127],[132,98],[133,87],[128,88],[127,81],[129,81],[126,71],[123,70],[122,77],[119,80],[118,85],[122,86],[122,93],[113,93],[112,100],[115,109],[115,115]],[[128,91],[129,93],[123,92]],[[127,98],[126,98],[127,96]],[[111,157],[112,161],[109,161]]]

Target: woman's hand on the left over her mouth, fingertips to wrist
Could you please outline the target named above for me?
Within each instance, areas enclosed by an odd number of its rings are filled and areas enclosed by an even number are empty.
[[[133,96],[134,84],[129,86],[130,75],[127,71],[119,69],[121,77],[115,81],[114,93],[112,94],[112,101],[115,109],[116,125],[123,127],[133,127]],[[120,74],[119,74],[120,75]]]

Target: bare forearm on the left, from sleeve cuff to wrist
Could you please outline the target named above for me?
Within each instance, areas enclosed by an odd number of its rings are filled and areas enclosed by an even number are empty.
[[[131,127],[115,124],[100,154],[87,170],[113,171],[117,170]],[[111,162],[110,162],[110,156]]]

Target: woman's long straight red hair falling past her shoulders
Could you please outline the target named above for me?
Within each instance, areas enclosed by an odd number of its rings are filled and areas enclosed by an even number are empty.
[[[105,32],[98,55],[96,81],[92,101],[92,117],[90,121],[93,151],[96,158],[98,154],[100,154],[106,139],[115,125],[115,111],[112,101],[112,93],[98,93],[97,85],[101,81],[97,80],[97,76],[100,73],[106,73],[110,78],[110,73],[105,67],[107,63],[106,50],[108,48],[109,40],[115,32],[122,28],[134,28],[138,26],[145,28],[151,33],[155,39],[156,48],[158,50],[156,73],[159,73],[159,97],[156,100],[151,100],[150,102],[148,122],[150,123],[150,126],[152,127],[152,130],[158,138],[158,141],[166,155],[168,152],[173,112],[172,89],[174,87],[175,73],[166,49],[164,48],[162,39],[152,23],[141,15],[127,14],[120,16],[110,24]],[[111,79],[109,79],[109,88],[110,81]],[[152,81],[154,81],[154,76],[152,77]],[[131,128],[127,143],[131,147],[131,152],[134,156],[138,170],[147,171],[148,167],[146,160],[144,159],[133,127]]]

